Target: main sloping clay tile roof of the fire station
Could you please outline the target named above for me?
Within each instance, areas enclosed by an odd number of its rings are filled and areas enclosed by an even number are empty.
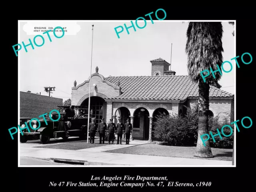
[[[113,99],[186,100],[198,97],[198,84],[189,76],[110,76],[120,82],[122,94]],[[231,98],[234,95],[210,86],[210,98]]]

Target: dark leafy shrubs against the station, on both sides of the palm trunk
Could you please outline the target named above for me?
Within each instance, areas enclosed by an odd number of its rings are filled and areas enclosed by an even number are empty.
[[[185,106],[186,107],[186,106]],[[230,125],[230,114],[226,114],[224,120],[219,120],[219,114],[214,118],[209,118],[209,135],[217,134],[217,128],[221,132],[221,128],[224,125]],[[234,126],[230,125],[233,130]],[[221,133],[222,134],[222,133]],[[226,127],[224,134],[229,135],[230,129]],[[214,137],[213,142],[210,135],[210,146],[215,148],[232,148],[234,134],[222,139],[219,136]],[[163,142],[167,142],[172,146],[196,146],[198,138],[198,105],[195,108],[186,107],[185,117],[174,116],[156,116],[156,122],[154,122],[154,136],[160,138]]]

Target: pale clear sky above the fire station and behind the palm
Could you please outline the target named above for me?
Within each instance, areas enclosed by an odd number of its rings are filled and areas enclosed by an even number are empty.
[[[162,58],[170,63],[171,45],[172,62],[171,68],[176,75],[188,75],[186,46],[186,30],[188,22],[155,21],[150,20],[143,29],[129,29],[127,34],[125,28],[117,37],[114,30],[117,26],[131,26],[130,21],[103,22],[103,21],[57,21],[57,22],[20,22],[19,44],[29,44],[29,38],[33,42],[34,36],[42,35],[44,44],[40,47],[34,45],[24,47],[18,52],[20,59],[20,91],[30,90],[32,93],[40,93],[48,96],[44,92],[44,87],[56,87],[56,91],[51,93],[52,97],[62,98],[63,102],[71,98],[71,88],[76,80],[77,85],[90,76],[91,53],[92,53],[92,74],[98,66],[99,73],[104,77],[108,76],[151,76],[150,60]],[[138,22],[143,26],[143,21]],[[92,50],[92,24],[93,30],[93,50]],[[234,94],[234,70],[236,64],[234,60],[234,40],[232,31],[234,26],[228,22],[222,22],[223,37],[222,53],[223,61],[230,61],[233,69],[229,73],[223,73],[219,81],[222,90]],[[49,26],[62,26],[66,30],[62,38],[56,38],[52,32],[50,42],[47,34],[42,34],[34,27],[42,26],[48,30]],[[43,29],[45,30],[45,29]],[[118,29],[120,30],[120,29]],[[49,34],[50,34],[49,33]],[[61,36],[62,32],[57,32]],[[37,44],[42,44],[42,39],[36,38]],[[33,43],[34,44],[34,43]],[[229,70],[229,66],[224,66]]]

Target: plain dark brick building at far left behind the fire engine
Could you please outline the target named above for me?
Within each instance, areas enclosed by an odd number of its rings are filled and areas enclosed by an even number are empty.
[[[62,106],[63,99],[20,91],[20,118],[38,118],[57,106]],[[39,119],[39,118],[38,118]],[[42,118],[40,118],[42,119]]]

